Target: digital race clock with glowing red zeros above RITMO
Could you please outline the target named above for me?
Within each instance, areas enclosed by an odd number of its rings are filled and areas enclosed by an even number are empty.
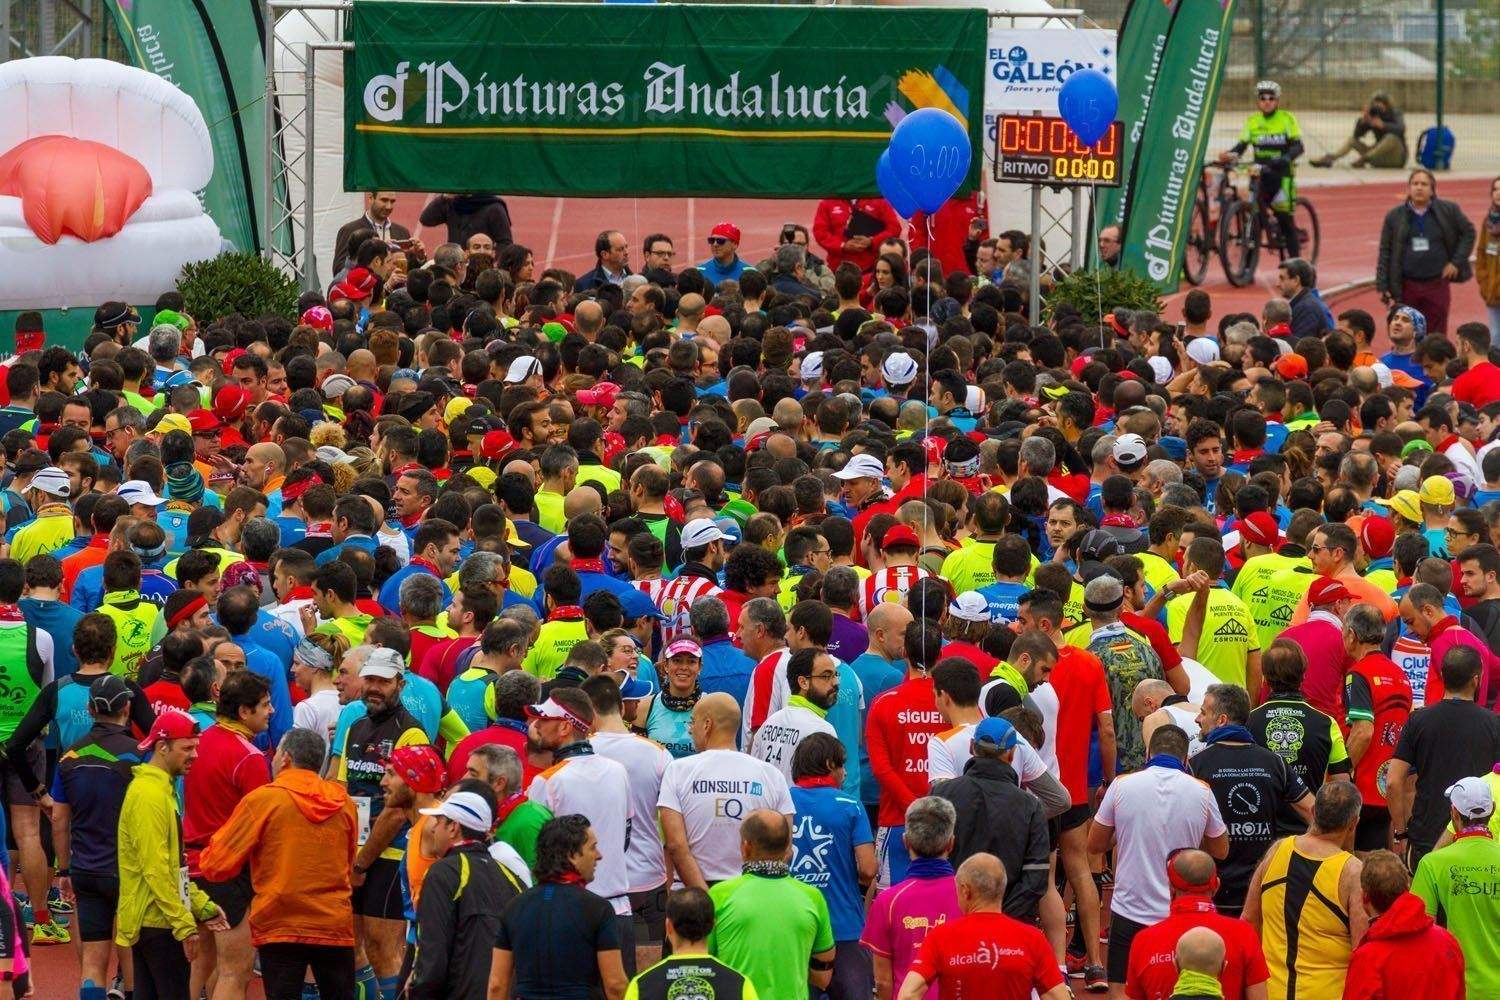
[[[1047,114],[1004,114],[994,129],[994,180],[1030,184],[1118,187],[1120,123],[1094,145]]]

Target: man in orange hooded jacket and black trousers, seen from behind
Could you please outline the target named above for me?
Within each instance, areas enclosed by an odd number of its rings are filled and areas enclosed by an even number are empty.
[[[322,759],[321,735],[290,730],[272,759],[272,783],[240,799],[198,861],[213,882],[250,865],[250,940],[267,1000],[300,997],[309,967],[321,996],[354,996],[358,813],[348,792],[318,777]]]

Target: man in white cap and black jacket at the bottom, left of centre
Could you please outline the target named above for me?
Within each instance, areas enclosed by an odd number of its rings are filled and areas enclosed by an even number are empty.
[[[438,861],[422,880],[406,996],[483,997],[500,915],[525,889],[489,856],[495,793],[483,781],[466,778],[422,814],[428,817],[422,850]]]

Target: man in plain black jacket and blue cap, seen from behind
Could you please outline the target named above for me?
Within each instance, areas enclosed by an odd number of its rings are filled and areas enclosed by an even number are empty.
[[[1047,819],[1041,802],[1023,792],[1016,769],[1020,736],[1004,718],[987,718],[974,729],[974,757],[963,774],[939,781],[932,793],[952,802],[951,861],[962,865],[980,853],[994,855],[1005,865],[1004,913],[1017,921],[1035,921],[1036,906],[1047,891]]]

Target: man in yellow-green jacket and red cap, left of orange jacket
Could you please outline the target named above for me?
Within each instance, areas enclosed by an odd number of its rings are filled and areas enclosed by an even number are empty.
[[[174,784],[198,757],[198,724],[184,712],[162,712],[140,751],[150,759],[135,768],[120,807],[114,943],[130,949],[136,990],[188,1000],[198,924],[230,930],[219,907],[188,879],[183,858]]]

